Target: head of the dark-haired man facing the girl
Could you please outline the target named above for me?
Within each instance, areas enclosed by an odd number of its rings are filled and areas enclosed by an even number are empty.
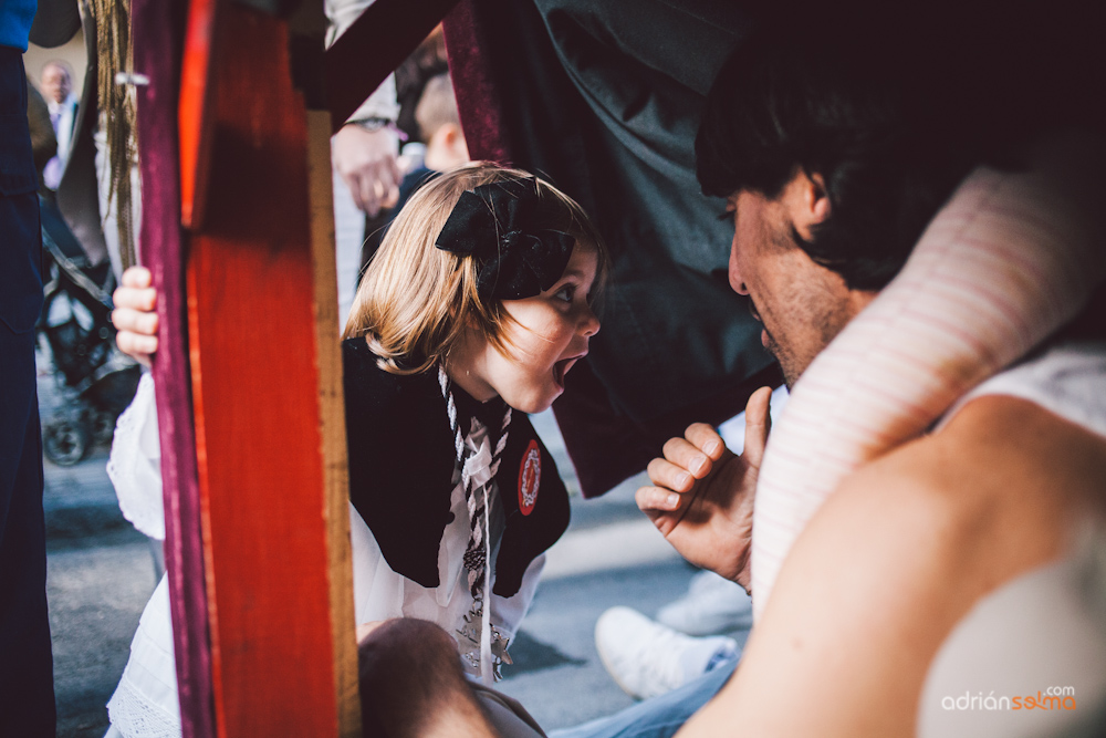
[[[784,321],[752,297],[789,385],[899,272],[940,206],[982,163],[957,145],[970,138],[969,121],[960,121],[953,137],[921,113],[908,51],[849,35],[781,27],[755,34],[719,71],[696,139],[703,193],[729,198],[734,215],[742,197],[758,212],[808,198],[805,229],[792,219],[779,232],[745,238],[760,245],[766,237],[781,256],[794,249],[786,258],[803,263],[789,267],[789,280],[812,272],[832,283],[793,288],[818,295],[796,302],[826,314]],[[738,220],[739,231],[744,225]],[[731,285],[749,294],[732,279],[742,257],[734,241]],[[856,304],[832,310],[826,290],[838,299],[852,294]],[[805,347],[778,335],[793,331],[812,334]],[[796,351],[801,355],[790,355]]]

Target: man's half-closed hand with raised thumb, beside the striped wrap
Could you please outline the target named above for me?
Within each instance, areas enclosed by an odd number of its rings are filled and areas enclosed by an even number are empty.
[[[734,455],[709,425],[696,423],[665,444],[649,462],[654,487],[637,490],[637,506],[691,563],[749,590],[749,553],[757,476],[771,428],[770,387],[745,406],[745,450]]]

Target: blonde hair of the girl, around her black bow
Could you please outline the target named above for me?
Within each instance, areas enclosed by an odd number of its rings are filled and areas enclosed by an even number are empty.
[[[481,302],[480,264],[471,256],[437,248],[435,241],[466,190],[531,178],[541,200],[534,226],[560,230],[577,246],[598,251],[596,293],[606,274],[607,251],[580,205],[526,171],[476,162],[422,185],[407,201],[365,271],[342,337],[365,336],[380,357],[380,367],[393,374],[416,374],[445,362],[469,325],[508,353],[505,328],[511,318],[500,301]]]

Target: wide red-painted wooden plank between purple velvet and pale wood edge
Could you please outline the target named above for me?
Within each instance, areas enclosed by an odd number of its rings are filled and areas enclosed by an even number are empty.
[[[283,23],[221,13],[188,266],[216,720],[228,737],[334,736],[305,111]]]

